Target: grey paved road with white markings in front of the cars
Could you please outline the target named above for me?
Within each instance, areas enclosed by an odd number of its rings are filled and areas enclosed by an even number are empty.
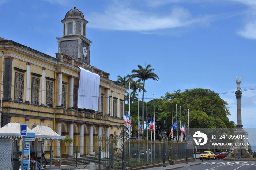
[[[179,170],[256,170],[256,161],[203,161],[200,165],[183,167]]]

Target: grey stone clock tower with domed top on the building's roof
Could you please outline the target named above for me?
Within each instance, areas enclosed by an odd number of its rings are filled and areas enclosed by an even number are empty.
[[[77,61],[90,65],[90,40],[86,38],[87,20],[81,11],[71,9],[66,13],[63,23],[63,37],[58,39],[58,53],[63,53]]]

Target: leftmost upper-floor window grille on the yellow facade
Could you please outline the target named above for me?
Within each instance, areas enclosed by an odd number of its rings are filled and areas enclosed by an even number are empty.
[[[15,72],[14,100],[23,101],[24,74]]]

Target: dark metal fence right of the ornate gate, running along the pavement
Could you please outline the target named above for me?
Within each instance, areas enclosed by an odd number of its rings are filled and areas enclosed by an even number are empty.
[[[162,163],[164,155],[166,161],[185,159],[186,154],[188,158],[193,157],[193,146],[188,145],[186,153],[185,142],[166,140],[164,145],[163,140],[129,140],[125,143],[125,164],[128,167]]]

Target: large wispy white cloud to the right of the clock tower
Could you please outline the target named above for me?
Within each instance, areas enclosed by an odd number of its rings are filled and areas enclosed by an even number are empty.
[[[188,9],[178,6],[171,8],[169,13],[164,14],[155,14],[151,10],[147,11],[147,9],[141,11],[130,5],[127,6],[115,3],[103,13],[91,14],[90,27],[143,32],[187,27],[205,20],[205,18],[194,18]]]

